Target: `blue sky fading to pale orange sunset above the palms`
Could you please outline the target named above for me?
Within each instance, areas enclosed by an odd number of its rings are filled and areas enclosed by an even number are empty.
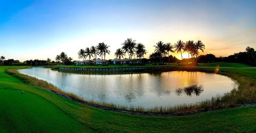
[[[113,59],[127,38],[143,43],[146,57],[158,41],[202,40],[200,54],[217,57],[256,49],[256,1],[0,0],[6,59],[54,60],[63,51],[78,60],[79,49],[99,42],[110,46],[106,58]]]

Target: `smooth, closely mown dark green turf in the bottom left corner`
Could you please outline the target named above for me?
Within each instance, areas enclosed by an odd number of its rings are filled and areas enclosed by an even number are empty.
[[[11,87],[0,89],[0,132],[82,132],[82,123],[69,117],[43,97],[21,94]]]

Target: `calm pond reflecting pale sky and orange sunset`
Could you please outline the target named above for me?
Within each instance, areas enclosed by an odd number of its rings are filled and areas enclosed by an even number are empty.
[[[154,108],[190,104],[223,95],[237,87],[227,76],[173,71],[159,74],[88,75],[63,73],[49,68],[20,69],[86,101]]]

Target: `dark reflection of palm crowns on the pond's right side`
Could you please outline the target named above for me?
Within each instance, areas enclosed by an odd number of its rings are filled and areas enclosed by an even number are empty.
[[[178,96],[186,94],[187,96],[196,95],[199,96],[204,91],[203,85],[191,85],[184,88],[178,88],[175,92]]]

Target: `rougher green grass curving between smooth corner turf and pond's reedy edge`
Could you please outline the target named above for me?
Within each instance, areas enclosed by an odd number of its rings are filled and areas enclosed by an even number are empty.
[[[137,115],[124,114],[124,113],[89,107],[87,105],[73,102],[68,99],[65,99],[64,97],[55,95],[50,91],[46,91],[38,87],[26,85],[21,81],[19,81],[17,78],[7,75],[5,73],[5,69],[7,68],[10,68],[10,67],[0,67],[0,75],[1,75],[0,88],[4,88],[8,86],[12,88],[17,88],[19,90],[25,90],[26,92],[31,92],[31,94],[33,95],[36,94],[42,97],[44,100],[51,102],[52,105],[54,105],[54,107],[59,108],[60,110],[68,114],[68,116],[83,123],[84,126],[89,126],[97,131],[102,131],[102,132],[253,132],[253,131],[256,131],[255,130],[256,129],[256,126],[255,126],[256,125],[255,123],[256,107],[255,106],[235,108],[235,109],[223,109],[219,111],[209,111],[205,113],[198,113],[191,116],[180,116],[180,117],[137,116]],[[227,69],[227,70],[231,70],[231,69]],[[253,72],[253,70],[251,70],[251,72],[255,74],[256,71]],[[237,70],[237,72],[235,73],[237,75],[244,74],[245,76],[250,76],[250,74],[246,75],[247,73],[246,69]],[[251,78],[254,78],[254,77],[252,76]],[[9,95],[9,94],[6,94],[6,95]],[[47,106],[48,105],[44,105],[44,108],[47,108]],[[6,110],[8,108],[9,108],[9,103],[6,103]],[[33,108],[33,107],[27,107],[27,110],[31,110],[30,108]],[[14,114],[7,116],[7,119],[12,120],[13,115]],[[34,115],[38,115],[38,114],[34,112]],[[46,118],[49,118],[49,117],[52,117],[52,116],[51,115],[49,115],[48,117],[46,116]],[[22,117],[20,117],[19,120],[21,122],[26,122],[26,121],[23,121]],[[10,121],[10,123],[12,122],[13,121]],[[40,125],[42,124],[41,122],[42,121],[37,121],[37,124]],[[58,124],[59,124],[58,122],[55,123],[55,125],[58,125]],[[0,123],[0,125],[2,125],[2,123]],[[45,127],[45,128],[50,128],[50,127]],[[18,128],[15,128],[15,129],[18,130]],[[32,130],[35,131],[37,130],[37,128],[36,127],[31,128],[30,131]]]

